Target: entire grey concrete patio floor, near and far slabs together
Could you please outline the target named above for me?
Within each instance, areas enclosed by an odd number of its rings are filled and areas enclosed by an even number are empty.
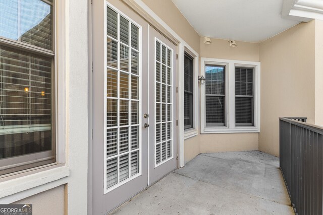
[[[113,214],[294,214],[279,158],[258,152],[201,154]]]

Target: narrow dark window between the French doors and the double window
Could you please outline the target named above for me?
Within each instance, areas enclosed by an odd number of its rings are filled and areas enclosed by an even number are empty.
[[[193,127],[193,58],[184,55],[184,129]]]

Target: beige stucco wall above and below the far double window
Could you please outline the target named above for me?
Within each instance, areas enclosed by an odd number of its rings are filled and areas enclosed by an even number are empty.
[[[200,57],[259,61],[257,43],[236,41],[233,48],[228,40],[211,38],[211,41],[204,44],[204,38],[200,37]],[[258,150],[258,133],[198,134],[184,141],[184,150],[185,163],[199,153]]]

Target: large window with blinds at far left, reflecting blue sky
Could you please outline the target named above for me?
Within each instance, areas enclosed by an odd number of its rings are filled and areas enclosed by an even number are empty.
[[[55,162],[52,14],[52,1],[0,1],[0,175]]]

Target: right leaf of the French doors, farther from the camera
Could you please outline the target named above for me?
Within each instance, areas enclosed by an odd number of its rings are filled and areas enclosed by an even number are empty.
[[[149,184],[152,184],[177,167],[174,120],[176,46],[150,26],[149,47],[149,112],[152,122],[149,130]]]

